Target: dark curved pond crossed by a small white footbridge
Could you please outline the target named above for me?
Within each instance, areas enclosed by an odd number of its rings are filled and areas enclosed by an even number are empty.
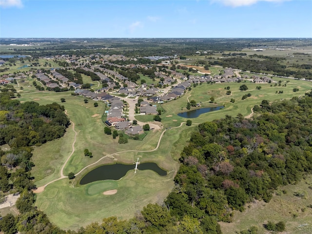
[[[130,170],[133,170],[135,173],[136,164],[112,164],[112,165],[103,165],[93,169],[91,172],[82,177],[79,184],[88,184],[98,180],[106,180],[113,179],[118,180],[126,175],[126,173]],[[156,172],[159,176],[166,176],[167,172],[162,170],[158,165],[154,162],[145,162],[140,163],[137,166],[137,169],[140,170],[152,170]]]

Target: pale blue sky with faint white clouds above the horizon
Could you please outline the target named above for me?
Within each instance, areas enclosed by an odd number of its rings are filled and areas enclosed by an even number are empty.
[[[312,0],[0,0],[1,38],[312,38]]]

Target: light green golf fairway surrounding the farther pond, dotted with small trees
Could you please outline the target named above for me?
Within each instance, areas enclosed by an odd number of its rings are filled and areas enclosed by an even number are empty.
[[[202,114],[197,118],[192,118],[193,123],[201,123],[203,121],[209,121],[220,117],[225,117],[225,115],[236,116],[238,113],[243,116],[248,116],[251,114],[251,108],[254,105],[261,104],[263,99],[269,101],[275,101],[285,98],[298,97],[304,95],[306,92],[310,91],[312,88],[311,82],[286,79],[286,78],[274,78],[274,80],[282,80],[281,86],[274,86],[274,84],[262,83],[256,84],[250,81],[241,82],[241,83],[215,83],[215,84],[202,84],[197,87],[192,87],[191,91],[181,98],[176,99],[175,101],[169,101],[161,105],[161,107],[166,111],[161,115],[161,123],[164,127],[175,127],[180,124],[180,122],[186,122],[187,118],[177,116],[180,112],[188,111],[186,109],[186,104],[189,100],[194,99],[197,103],[200,103],[200,108],[211,107],[211,106],[221,106],[225,105],[225,108],[218,110],[216,112]],[[286,87],[282,87],[283,84],[286,84]],[[246,84],[248,87],[247,91],[240,91],[239,86]],[[230,86],[232,91],[231,95],[227,95],[227,90],[225,87]],[[261,89],[256,89],[257,86],[261,86]],[[293,88],[298,88],[298,92],[293,92]],[[276,91],[283,91],[282,94],[276,94]],[[251,94],[251,97],[248,97],[244,100],[241,98],[245,94]],[[214,97],[214,103],[210,102],[210,97]],[[231,98],[234,98],[235,102],[231,102]],[[195,109],[192,107],[191,110]],[[139,121],[151,121],[153,116],[136,116]]]

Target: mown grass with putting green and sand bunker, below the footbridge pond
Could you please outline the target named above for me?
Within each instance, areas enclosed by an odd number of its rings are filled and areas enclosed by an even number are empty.
[[[109,216],[127,219],[148,203],[162,201],[171,191],[173,174],[165,179],[155,174],[129,171],[119,181],[97,181],[78,188],[67,179],[59,180],[38,194],[36,206],[62,229],[78,229]],[[117,193],[103,195],[111,189]]]

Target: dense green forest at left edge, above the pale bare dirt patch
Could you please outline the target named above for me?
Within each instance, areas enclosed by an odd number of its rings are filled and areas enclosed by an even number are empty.
[[[69,125],[64,107],[57,103],[40,106],[34,101],[20,103],[8,92],[0,98],[0,199],[7,192],[21,193],[35,188],[30,174],[33,145],[62,137]],[[10,170],[10,171],[8,171]]]

